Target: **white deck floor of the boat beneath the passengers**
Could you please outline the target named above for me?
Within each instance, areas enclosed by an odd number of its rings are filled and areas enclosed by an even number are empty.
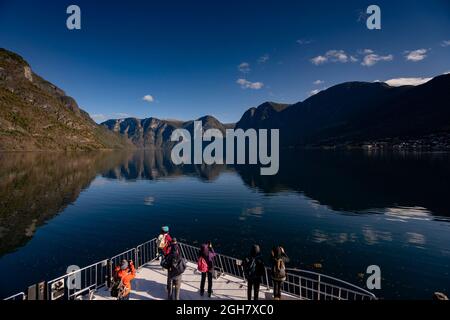
[[[247,299],[247,284],[239,278],[229,275],[221,275],[213,279],[213,295],[208,298],[207,294],[202,297],[200,290],[200,273],[197,266],[188,263],[183,274],[180,291],[181,300],[245,300]],[[165,300],[167,299],[167,271],[161,268],[159,262],[152,262],[137,270],[136,278],[132,281],[132,292],[130,300]],[[272,299],[272,292],[261,286],[259,298]],[[288,298],[288,297],[285,297]],[[102,289],[94,295],[95,300],[113,300],[107,289]]]

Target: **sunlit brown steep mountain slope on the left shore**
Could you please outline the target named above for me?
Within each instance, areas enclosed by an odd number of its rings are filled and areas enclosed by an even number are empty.
[[[0,48],[0,150],[92,150],[132,147],[97,125],[65,92]]]

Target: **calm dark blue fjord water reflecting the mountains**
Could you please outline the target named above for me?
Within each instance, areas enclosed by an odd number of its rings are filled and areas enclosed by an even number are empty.
[[[450,156],[284,151],[259,168],[174,166],[167,152],[0,154],[0,296],[153,238],[212,240],[236,257],[282,244],[289,267],[365,286],[384,298],[450,290]]]

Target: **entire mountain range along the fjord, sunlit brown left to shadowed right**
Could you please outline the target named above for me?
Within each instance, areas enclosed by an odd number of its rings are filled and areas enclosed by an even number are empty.
[[[363,145],[445,137],[450,146],[450,74],[419,86],[346,82],[295,104],[265,102],[236,124],[204,116],[203,129],[280,129],[282,147]],[[0,49],[0,150],[167,148],[194,120],[111,119],[96,124],[75,100]],[[434,139],[434,138],[433,138]],[[428,141],[427,140],[427,141]],[[439,141],[442,141],[439,140]]]

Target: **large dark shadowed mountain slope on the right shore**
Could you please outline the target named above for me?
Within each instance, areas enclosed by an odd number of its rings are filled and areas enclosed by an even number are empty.
[[[278,128],[284,146],[360,143],[450,131],[450,75],[420,86],[348,82],[238,128]],[[264,108],[263,104],[259,108]],[[259,109],[258,108],[258,109]],[[250,120],[249,120],[250,118]]]

